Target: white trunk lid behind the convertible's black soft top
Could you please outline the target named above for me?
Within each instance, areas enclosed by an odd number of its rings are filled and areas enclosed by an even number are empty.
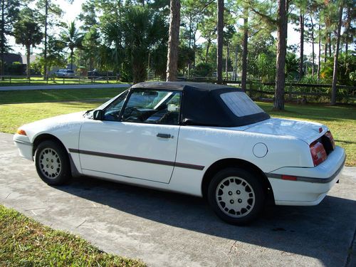
[[[295,137],[310,145],[319,137],[323,136],[325,132],[328,131],[328,127],[317,122],[286,120],[273,117],[269,120],[263,120],[263,122],[251,125],[251,127],[248,127],[245,131]]]

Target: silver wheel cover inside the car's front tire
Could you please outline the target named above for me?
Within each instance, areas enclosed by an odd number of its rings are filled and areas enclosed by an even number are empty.
[[[48,179],[56,179],[61,172],[61,158],[56,150],[45,148],[39,156],[41,172]]]

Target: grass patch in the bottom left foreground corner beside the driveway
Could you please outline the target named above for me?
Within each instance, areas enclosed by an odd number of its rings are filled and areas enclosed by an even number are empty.
[[[145,266],[0,205],[0,266]]]

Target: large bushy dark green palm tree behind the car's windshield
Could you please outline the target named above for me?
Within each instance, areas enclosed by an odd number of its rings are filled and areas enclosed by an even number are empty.
[[[125,6],[120,14],[119,21],[105,26],[103,38],[106,46],[114,47],[112,56],[115,53],[117,58],[125,58],[122,63],[131,69],[133,83],[140,83],[147,77],[149,53],[167,46],[168,26],[164,16],[147,5]],[[161,60],[166,61],[167,56]]]

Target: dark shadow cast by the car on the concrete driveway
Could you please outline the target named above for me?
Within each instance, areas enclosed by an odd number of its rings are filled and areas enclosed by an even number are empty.
[[[90,177],[56,188],[161,224],[272,248],[286,256],[318,258],[324,266],[345,266],[355,231],[356,201],[338,197],[328,196],[318,206],[268,205],[258,220],[239,227],[218,219],[199,197]],[[234,247],[230,252],[239,253]]]

